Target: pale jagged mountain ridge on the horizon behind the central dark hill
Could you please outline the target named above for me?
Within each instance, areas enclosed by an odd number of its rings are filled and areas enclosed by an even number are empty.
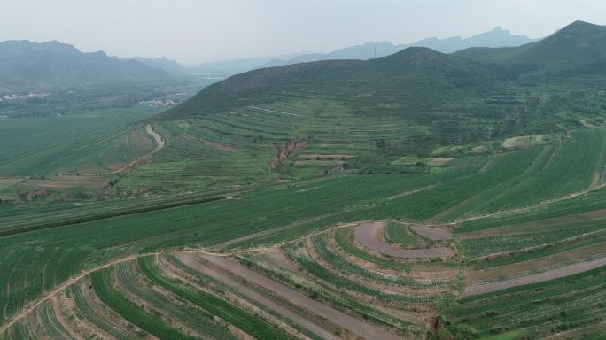
[[[407,49],[408,47],[427,47],[442,53],[453,53],[457,50],[464,50],[470,47],[511,47],[535,41],[536,39],[531,39],[525,35],[512,35],[508,30],[504,30],[501,27],[495,27],[492,31],[473,35],[469,38],[462,38],[460,36],[453,36],[446,39],[428,38],[418,42],[400,45],[394,45],[392,42],[366,42],[362,45],[346,47],[330,53],[307,53],[290,59],[276,58],[266,64],[256,66],[255,68],[284,66],[331,59],[365,60],[385,57],[400,50]]]

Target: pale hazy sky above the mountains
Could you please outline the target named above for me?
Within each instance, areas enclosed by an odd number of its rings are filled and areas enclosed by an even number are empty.
[[[603,0],[0,0],[0,41],[193,64],[496,26],[541,37],[576,19],[606,24],[604,13]]]

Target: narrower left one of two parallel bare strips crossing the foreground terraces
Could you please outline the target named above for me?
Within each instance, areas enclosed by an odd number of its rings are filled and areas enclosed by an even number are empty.
[[[303,318],[299,314],[292,312],[287,307],[277,304],[275,301],[271,300],[270,298],[267,298],[267,297],[261,295],[256,290],[253,290],[253,289],[245,286],[241,282],[237,282],[236,280],[230,278],[228,275],[222,274],[210,267],[206,267],[204,264],[202,264],[202,263],[198,262],[198,260],[196,260],[196,258],[198,257],[197,254],[194,254],[191,252],[183,252],[183,251],[175,252],[174,254],[175,254],[175,257],[177,259],[179,259],[181,262],[183,262],[183,264],[185,264],[186,266],[196,269],[198,272],[200,272],[202,274],[211,276],[214,279],[218,280],[219,282],[229,286],[230,288],[233,288],[234,290],[239,291],[240,293],[244,294],[245,296],[247,296],[249,298],[253,298],[253,300],[259,302],[261,305],[265,305],[269,309],[282,314],[284,317],[290,319],[291,321],[298,323],[301,327],[306,328],[310,332],[314,333],[316,336],[320,336],[320,337],[322,337],[322,339],[338,340],[338,336],[333,335],[330,331],[322,328],[322,326],[319,326],[312,321],[308,321],[307,319]],[[238,273],[241,273],[241,272],[238,272]],[[245,276],[245,278],[246,278],[246,280],[249,279],[248,276]]]

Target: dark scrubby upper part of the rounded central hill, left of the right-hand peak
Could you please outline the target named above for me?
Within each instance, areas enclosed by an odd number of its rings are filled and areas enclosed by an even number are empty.
[[[333,97],[350,98],[371,93],[400,102],[433,95],[465,96],[485,91],[516,75],[517,71],[507,66],[427,48],[408,48],[367,61],[326,60],[238,74],[200,91],[161,117],[179,119],[226,111],[234,106],[271,101],[289,92],[330,93]]]

